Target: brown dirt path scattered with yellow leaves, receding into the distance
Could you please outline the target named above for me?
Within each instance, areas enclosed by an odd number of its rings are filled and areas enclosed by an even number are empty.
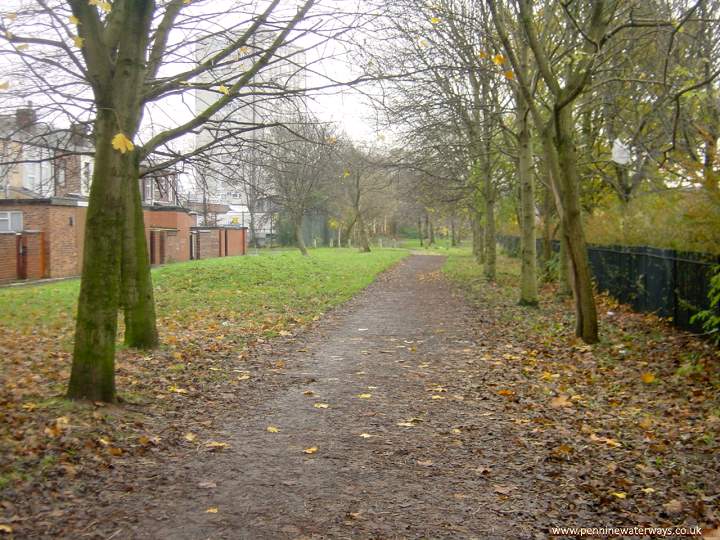
[[[543,505],[512,487],[533,464],[508,444],[502,399],[469,383],[482,336],[443,262],[410,257],[275,351],[305,383],[226,411],[228,449],[116,500],[137,519],[116,537],[535,537]]]

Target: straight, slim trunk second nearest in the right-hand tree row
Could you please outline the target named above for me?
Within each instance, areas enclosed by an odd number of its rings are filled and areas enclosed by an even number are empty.
[[[526,49],[523,49],[526,51]],[[527,56],[527,54],[525,54]],[[520,304],[537,306],[537,252],[535,246],[535,186],[528,106],[516,92],[518,117],[518,180],[520,184]]]

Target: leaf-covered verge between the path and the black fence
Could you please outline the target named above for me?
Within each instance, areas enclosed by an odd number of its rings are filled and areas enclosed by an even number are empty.
[[[596,297],[601,342],[574,337],[553,286],[517,304],[519,262],[488,283],[470,256],[443,269],[476,309],[484,388],[506,403],[535,473],[604,523],[717,526],[720,351],[648,314]]]

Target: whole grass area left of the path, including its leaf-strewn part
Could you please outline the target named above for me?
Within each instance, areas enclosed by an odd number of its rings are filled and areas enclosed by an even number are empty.
[[[0,493],[22,500],[37,482],[59,489],[83,470],[187,443],[182,426],[210,416],[218,399],[290,380],[281,361],[254,363],[256,346],[292,340],[407,253],[262,252],[154,269],[162,346],[118,349],[120,407],[62,398],[79,280],[0,289]]]

